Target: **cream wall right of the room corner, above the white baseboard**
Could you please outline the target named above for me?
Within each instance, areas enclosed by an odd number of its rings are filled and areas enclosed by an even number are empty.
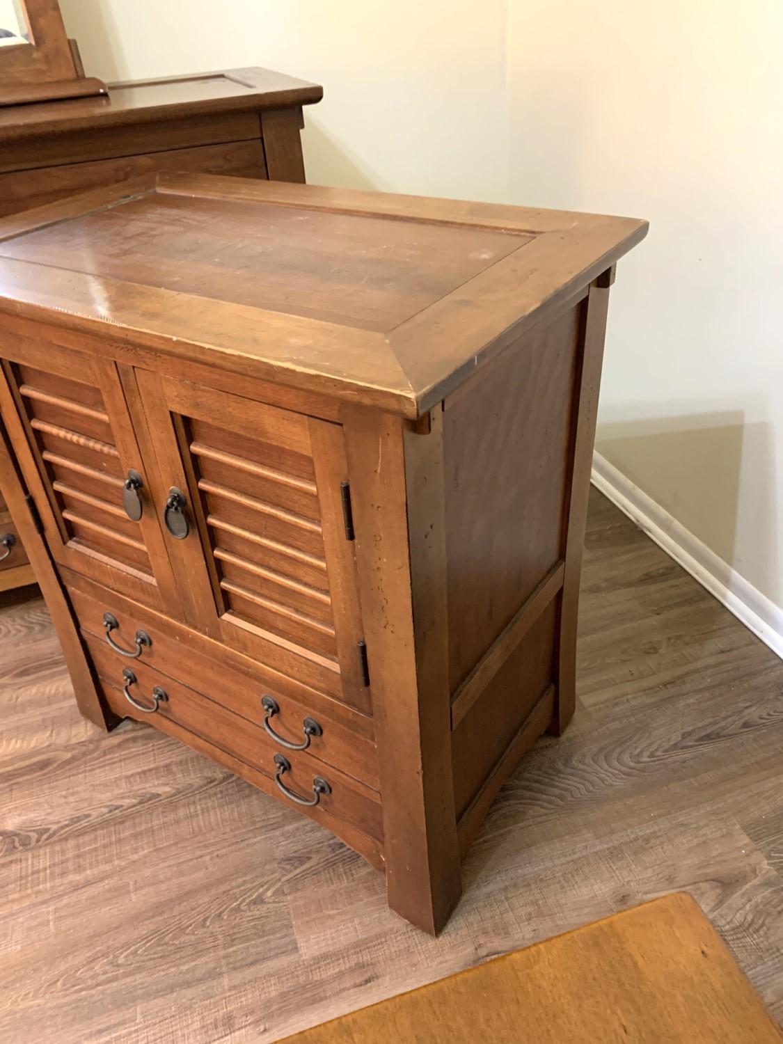
[[[783,4],[511,4],[515,201],[646,217],[597,448],[783,606]]]

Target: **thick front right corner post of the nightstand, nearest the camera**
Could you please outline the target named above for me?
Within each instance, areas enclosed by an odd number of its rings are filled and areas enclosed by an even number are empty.
[[[436,934],[461,894],[451,764],[443,409],[343,411],[388,905]]]

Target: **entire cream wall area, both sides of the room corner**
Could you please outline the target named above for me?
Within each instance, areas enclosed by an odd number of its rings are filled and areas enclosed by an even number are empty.
[[[614,292],[598,448],[783,604],[780,0],[62,6],[105,78],[323,82],[312,182],[649,218]]]

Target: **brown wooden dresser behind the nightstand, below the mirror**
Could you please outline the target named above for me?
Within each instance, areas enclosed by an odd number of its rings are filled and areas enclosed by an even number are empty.
[[[269,69],[230,69],[0,108],[0,215],[155,171],[304,182],[302,106],[323,93]]]

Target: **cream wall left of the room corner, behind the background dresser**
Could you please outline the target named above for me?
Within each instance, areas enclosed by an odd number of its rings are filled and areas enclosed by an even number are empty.
[[[308,180],[502,199],[505,0],[62,0],[90,74],[261,65],[316,80]],[[228,18],[228,13],[232,17]]]

